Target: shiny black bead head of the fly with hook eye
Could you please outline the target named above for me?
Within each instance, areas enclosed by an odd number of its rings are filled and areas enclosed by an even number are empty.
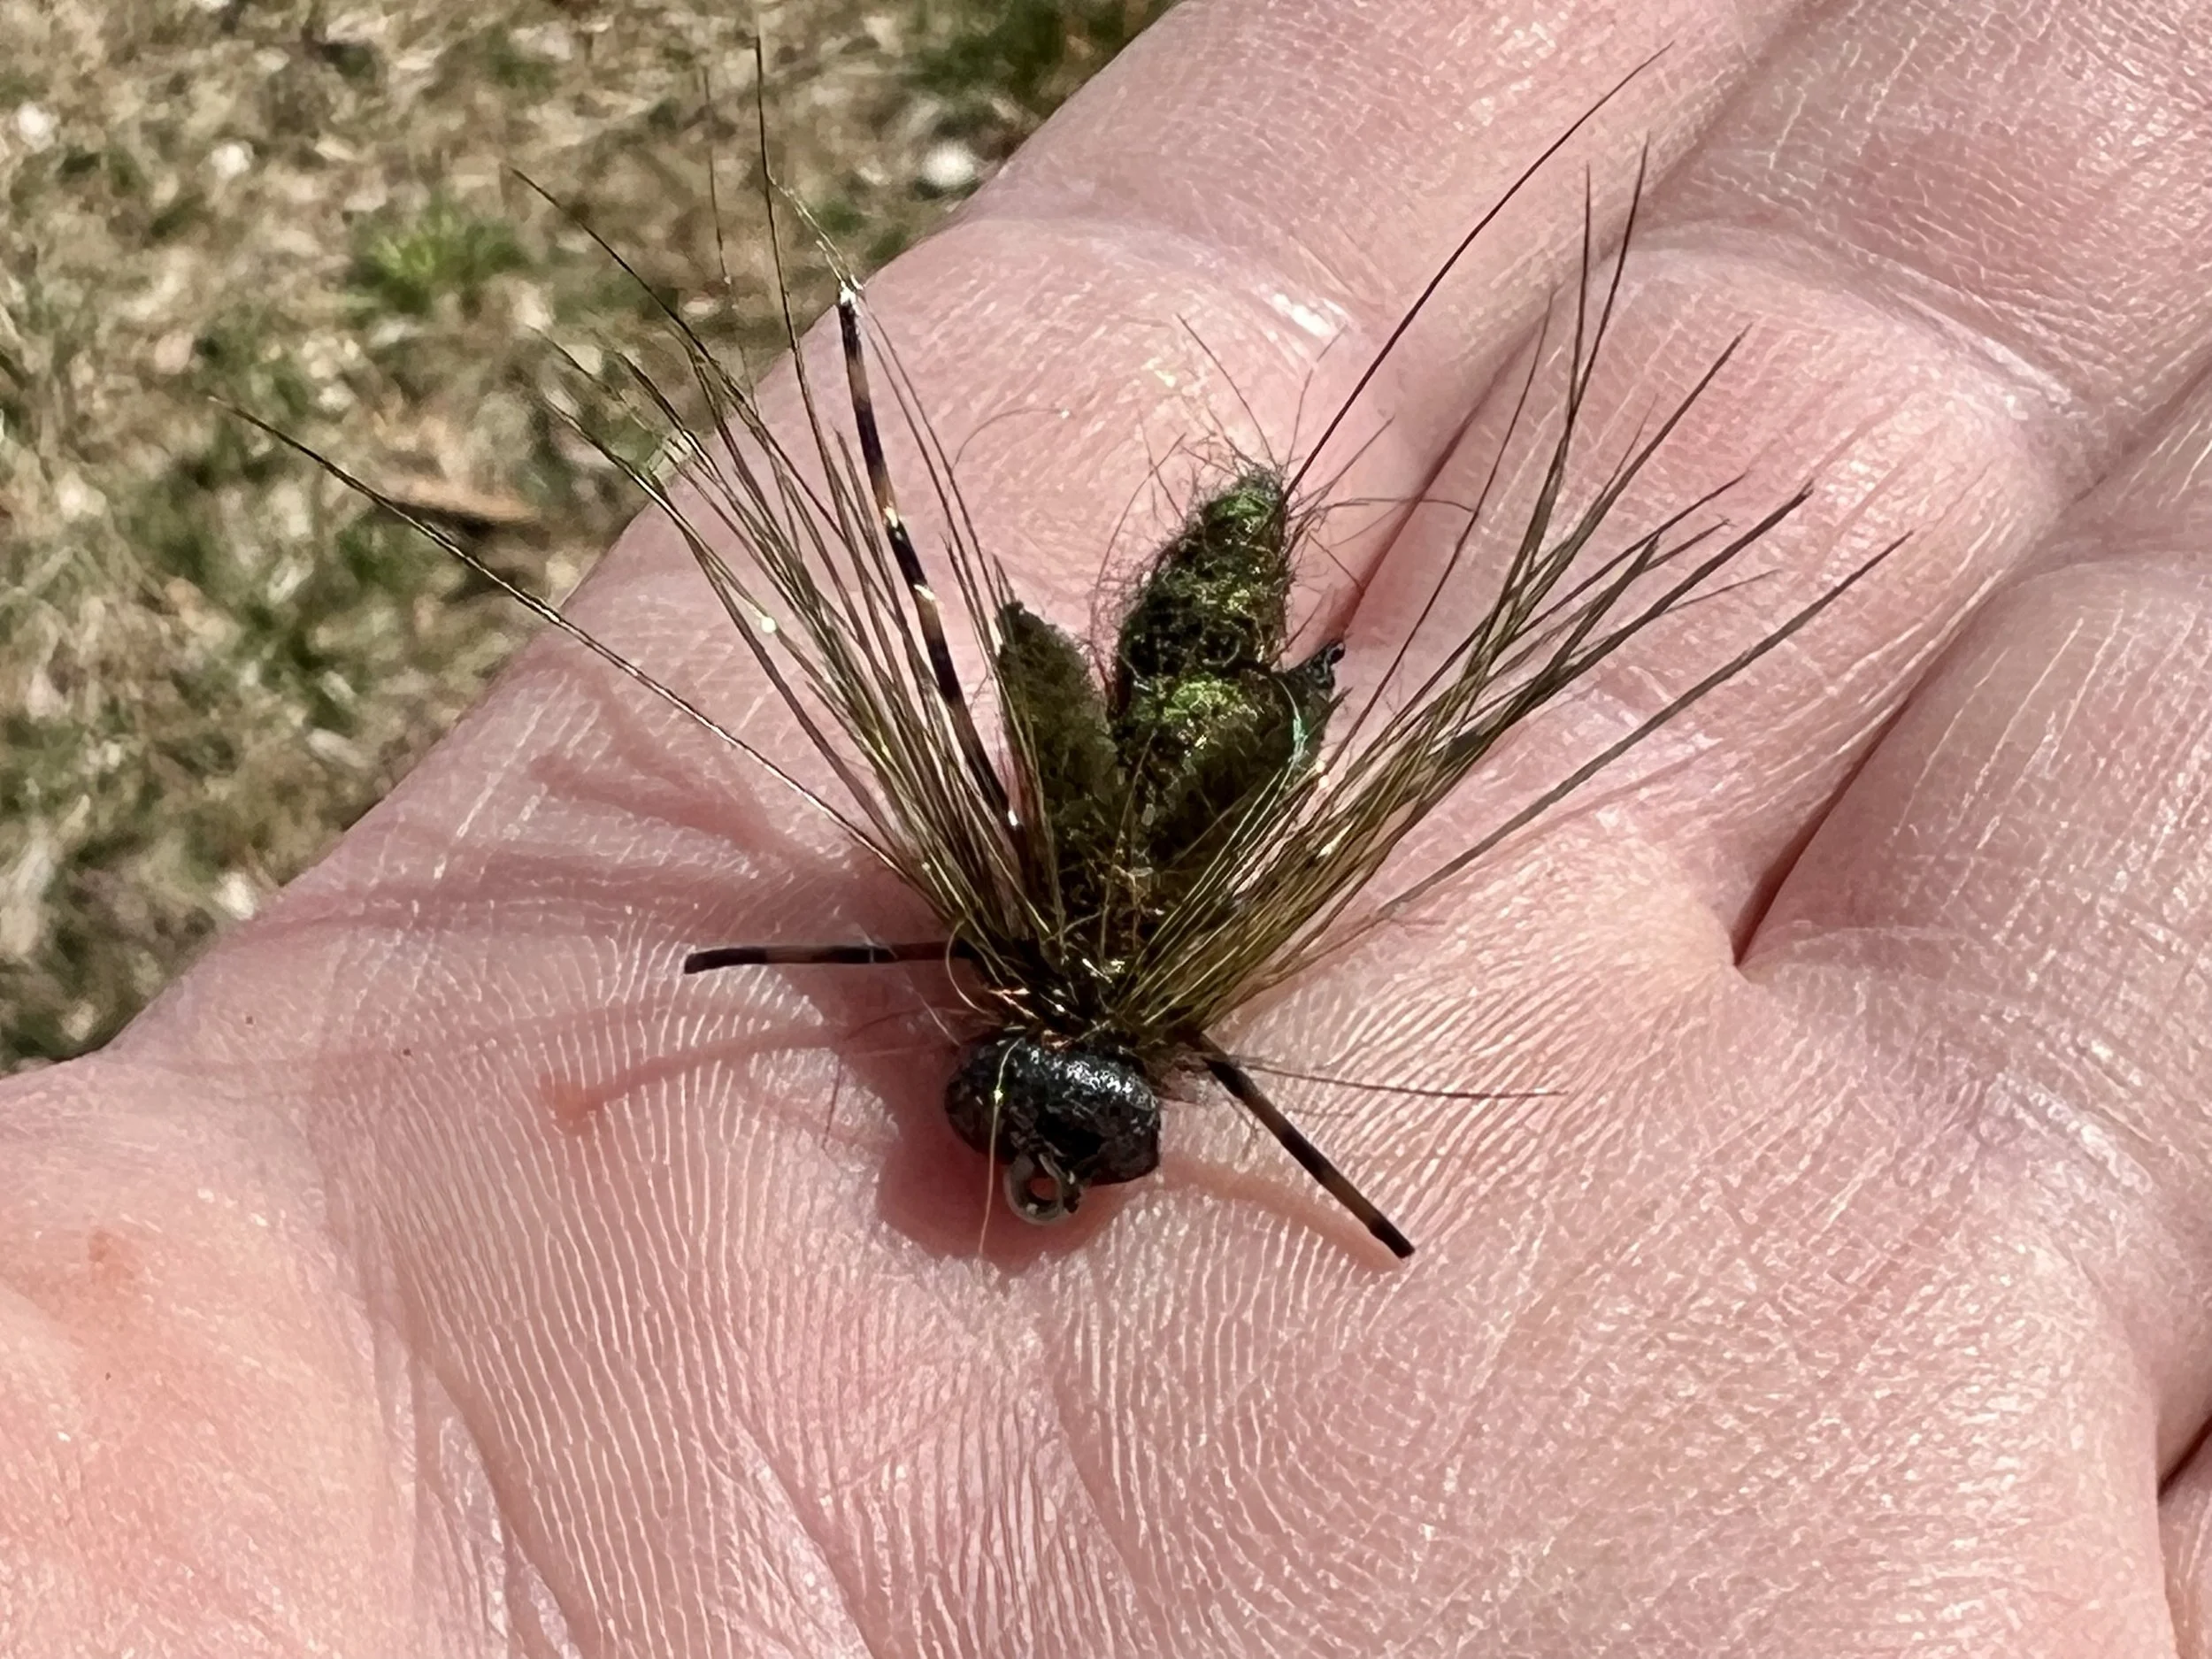
[[[1144,1066],[1110,1048],[1000,1031],[962,1055],[945,1115],[962,1141],[1006,1166],[1006,1206],[1024,1221],[1062,1221],[1084,1188],[1159,1168],[1159,1093]]]

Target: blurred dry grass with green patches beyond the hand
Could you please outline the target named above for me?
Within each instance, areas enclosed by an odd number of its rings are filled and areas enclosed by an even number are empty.
[[[883,263],[1168,2],[763,4],[776,173]],[[549,341],[664,341],[511,170],[765,358],[752,29],[684,0],[0,0],[0,1071],[113,1035],[529,633],[208,396],[573,586],[635,502],[546,414]]]

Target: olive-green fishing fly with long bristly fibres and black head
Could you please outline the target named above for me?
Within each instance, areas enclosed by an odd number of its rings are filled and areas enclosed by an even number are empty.
[[[872,330],[856,283],[836,301],[852,442],[825,414],[787,301],[783,332],[805,407],[799,449],[770,429],[752,385],[664,307],[712,418],[703,429],[688,425],[624,358],[672,465],[648,469],[613,447],[604,453],[677,526],[843,801],[807,790],[737,730],[487,568],[449,531],[341,478],[801,790],[942,925],[940,936],[911,942],[690,949],[684,973],[947,962],[964,980],[980,1029],[953,1064],[945,1110],[958,1135],[1002,1168],[1004,1201],[1024,1221],[1057,1221],[1091,1188],[1155,1170],[1161,1102],[1212,1079],[1383,1245],[1409,1256],[1407,1237],[1214,1033],[1259,993],[1402,916],[1781,646],[1882,557],[1674,692],[1473,845],[1367,900],[1402,838],[1506,732],[1641,630],[1712,593],[1730,564],[1809,495],[1801,489],[1732,526],[1712,511],[1712,491],[1601,546],[1613,540],[1621,495],[1723,372],[1723,352],[1615,460],[1586,507],[1562,507],[1577,493],[1577,429],[1621,292],[1644,192],[1639,164],[1610,270],[1601,268],[1584,190],[1564,396],[1542,427],[1548,438],[1533,507],[1511,533],[1504,571],[1473,626],[1418,684],[1398,684],[1411,679],[1400,650],[1352,708],[1336,686],[1340,644],[1292,639],[1292,584],[1325,509],[1310,493],[1316,458],[1484,228],[1615,93],[1619,86],[1531,161],[1438,265],[1303,460],[1239,462],[1190,507],[1095,655],[1031,611],[978,544],[953,465],[896,354]],[[765,170],[765,119],[761,155]],[[774,188],[765,195],[774,217]],[[774,259],[783,290],[781,252]],[[898,507],[872,363],[920,453],[920,478],[907,482],[942,509],[942,546],[931,562]],[[1528,376],[1509,440],[1531,418],[1533,365]],[[1460,511],[1467,524],[1438,591],[1462,564],[1475,526],[1489,524],[1489,484]],[[982,697],[962,684],[956,630],[984,666]]]

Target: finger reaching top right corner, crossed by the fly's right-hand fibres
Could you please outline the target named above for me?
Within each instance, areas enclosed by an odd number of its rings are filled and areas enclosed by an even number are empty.
[[[1655,192],[1584,456],[1619,456],[1747,330],[1621,522],[1736,471],[1736,522],[1805,480],[1814,500],[1734,566],[1759,580],[1655,628],[1553,734],[1502,757],[1438,849],[1909,535],[1863,593],[1588,792],[1732,925],[1756,911],[1975,597],[2203,363],[2208,294],[2177,274],[2212,230],[2205,20],[2194,2],[2064,7],[2022,35],[1986,7],[1840,7],[1776,53]],[[2139,29],[2174,46],[2157,73]],[[1473,491],[1498,427],[1493,409],[1440,495]],[[1427,595],[1451,529],[1429,518],[1394,549],[1365,637],[1398,637]]]

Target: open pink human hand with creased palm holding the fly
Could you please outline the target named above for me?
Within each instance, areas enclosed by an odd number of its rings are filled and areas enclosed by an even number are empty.
[[[1431,845],[1911,542],[1228,1033],[1553,1091],[1279,1086],[1407,1267],[1228,1106],[978,1248],[942,973],[672,973],[914,900],[542,641],[0,1097],[0,1650],[2212,1655],[2212,4],[1192,4],[872,303],[949,442],[1029,411],[962,482],[1079,619],[1148,451],[1243,431],[1192,336],[1279,442],[1312,378],[1310,438],[1661,44],[1347,487],[1480,462],[1582,166],[1617,208],[1648,133],[1606,414],[1752,336],[1646,504],[1820,489]],[[1318,372],[1294,307],[1347,327]],[[1316,575],[1354,672],[1438,553],[1416,520]],[[580,613],[803,752],[664,531]]]

